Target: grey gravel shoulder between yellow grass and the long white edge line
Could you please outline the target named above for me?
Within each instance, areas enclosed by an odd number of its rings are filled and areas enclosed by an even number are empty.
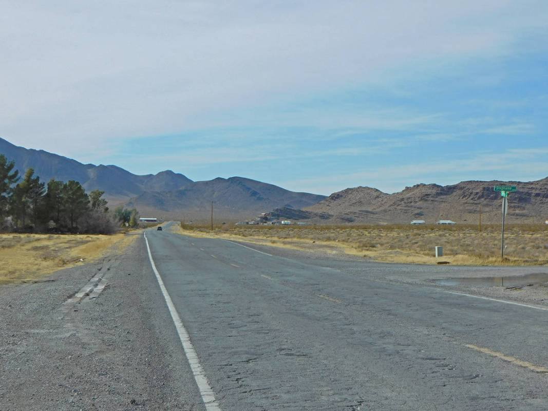
[[[1,410],[204,409],[141,239],[0,307]]]

